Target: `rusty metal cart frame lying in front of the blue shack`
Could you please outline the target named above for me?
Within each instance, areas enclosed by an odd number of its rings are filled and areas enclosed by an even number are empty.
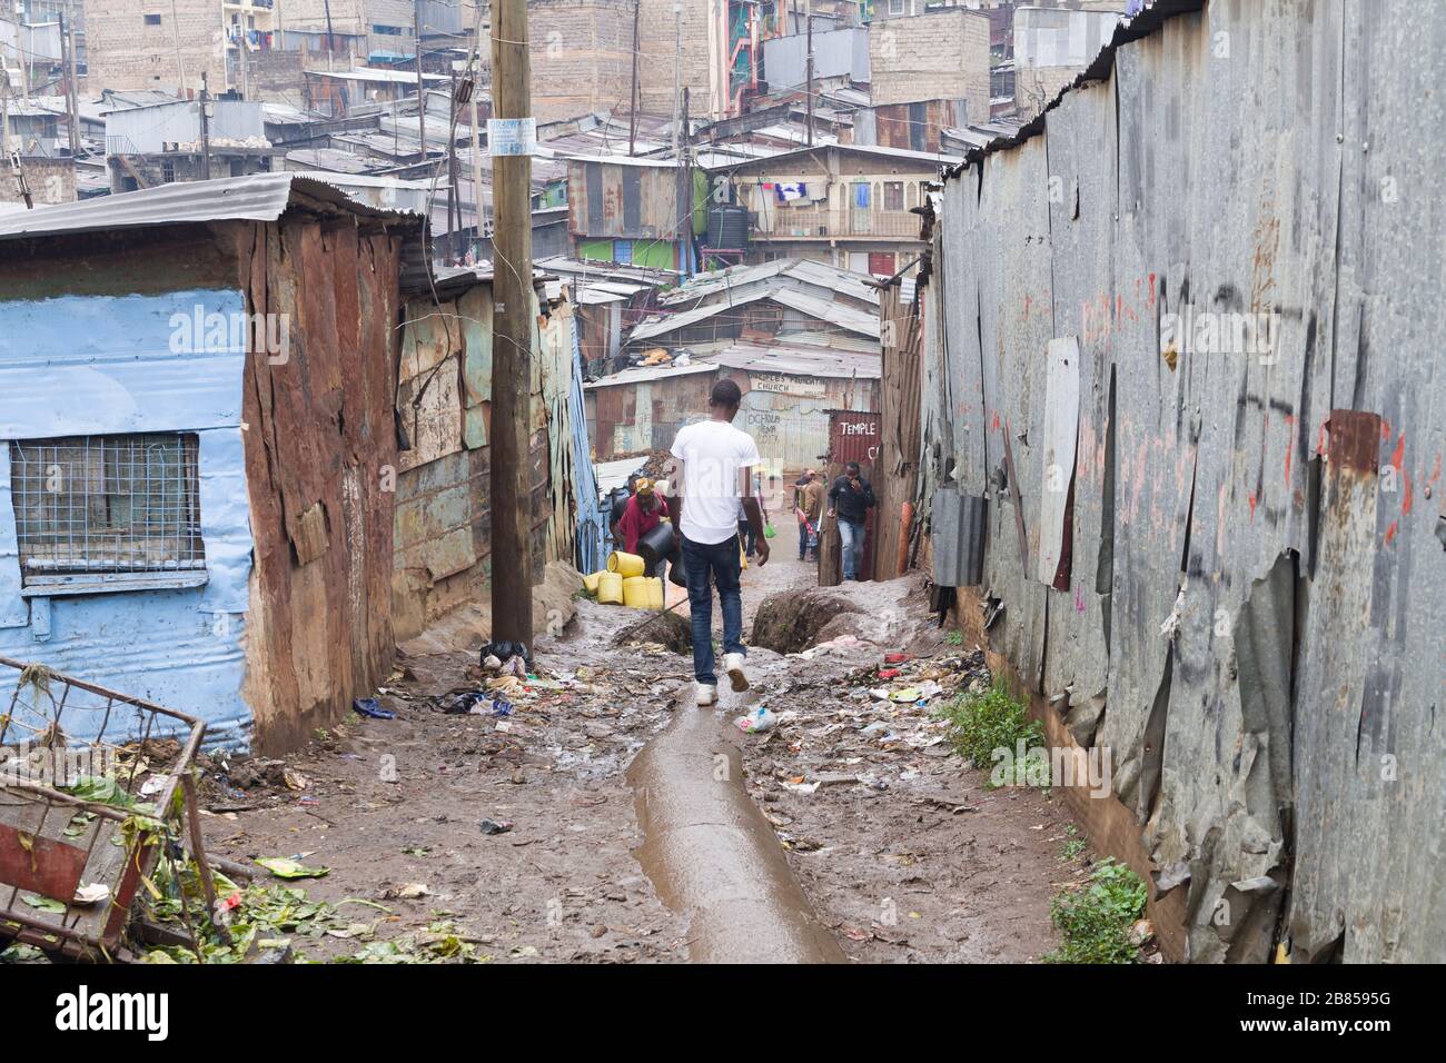
[[[136,894],[143,881],[155,872],[161,848],[169,839],[188,836],[191,858],[195,861],[201,888],[208,911],[215,911],[215,887],[205,858],[201,839],[201,820],[195,801],[195,784],[191,765],[201,748],[205,723],[195,716],[166,709],[139,697],[85,683],[45,665],[25,664],[0,657],[0,681],[7,673],[14,675],[14,691],[9,707],[0,712],[0,942],[14,939],[43,952],[59,953],[71,959],[98,960],[117,959],[123,955],[123,933],[130,920]],[[39,704],[22,704],[20,694],[29,686],[39,701],[43,688],[51,706],[42,713]],[[59,696],[55,687],[61,687]],[[82,697],[72,696],[77,691]],[[80,704],[93,701],[94,704]],[[3,703],[0,703],[3,704]],[[27,710],[35,719],[22,722],[17,712]],[[113,751],[133,754],[137,761],[156,751],[155,743],[176,742],[179,752],[166,758],[163,768],[147,771],[150,777],[162,777],[159,788],[146,794],[153,801],[153,814],[146,811],[137,819],[130,837],[121,824],[136,816],[134,808],[117,807],[106,801],[85,800],[68,794],[43,781],[32,781],[7,775],[3,769],[6,743],[17,743],[17,730],[39,735],[42,748],[55,751],[55,743],[64,745],[62,722],[67,710],[72,714],[100,713],[100,726],[94,738],[84,739],[82,752]],[[129,722],[121,722],[129,717]],[[46,723],[40,730],[36,725]],[[124,732],[121,742],[107,738],[107,730],[116,723]],[[134,729],[127,729],[134,723]],[[25,740],[29,740],[26,736]],[[51,745],[45,746],[49,740]],[[64,746],[67,752],[68,746]],[[139,771],[133,767],[123,780],[127,803],[134,801],[139,785]],[[176,800],[179,793],[179,801]],[[84,826],[74,826],[80,813],[91,819]],[[182,821],[184,817],[184,821]],[[156,829],[156,821],[165,824]],[[78,843],[67,834],[75,832]],[[121,832],[117,834],[117,832]],[[121,845],[114,845],[120,837]],[[82,882],[104,884],[108,897],[98,904],[77,902],[75,891]],[[22,897],[27,892],[43,898],[32,904]],[[46,905],[45,901],[52,904]],[[54,902],[65,905],[64,913],[48,911]],[[182,910],[195,944],[195,928],[185,908],[185,892],[181,891]],[[220,928],[224,936],[224,928]],[[198,953],[200,955],[200,953]]]

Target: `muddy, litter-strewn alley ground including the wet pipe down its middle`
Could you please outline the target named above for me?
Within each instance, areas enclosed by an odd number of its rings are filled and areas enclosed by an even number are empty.
[[[752,645],[752,688],[709,709],[681,618],[589,600],[505,700],[473,648],[401,657],[392,719],[202,758],[210,850],[299,891],[296,959],[1038,960],[1077,832],[954,751],[980,655],[915,580],[814,581],[787,548],[745,571],[753,641],[797,646]],[[743,733],[761,706],[778,726]]]

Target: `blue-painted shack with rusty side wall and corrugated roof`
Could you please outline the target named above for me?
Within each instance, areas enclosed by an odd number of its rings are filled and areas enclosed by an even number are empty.
[[[421,226],[289,174],[0,220],[0,657],[260,752],[385,680]]]

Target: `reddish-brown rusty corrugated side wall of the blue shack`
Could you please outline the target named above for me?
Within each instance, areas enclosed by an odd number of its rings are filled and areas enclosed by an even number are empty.
[[[244,694],[265,752],[341,719],[392,667],[382,473],[398,463],[402,242],[289,215],[234,224],[249,308],[285,314],[294,333],[288,360],[246,359],[243,388],[256,580]]]

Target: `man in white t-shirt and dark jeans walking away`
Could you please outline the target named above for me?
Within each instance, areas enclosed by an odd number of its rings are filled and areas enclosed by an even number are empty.
[[[758,539],[758,564],[768,564],[763,515],[750,490],[752,469],[762,458],[753,437],[733,427],[742,402],[743,392],[733,380],[719,380],[709,396],[709,419],[690,424],[672,444],[672,456],[680,463],[677,484],[681,489],[683,512],[677,535],[681,538],[688,607],[693,613],[693,678],[697,683],[698,704],[713,704],[719,697],[719,681],[713,671],[710,577],[723,610],[723,668],[733,690],[748,690],[748,674],[743,671],[748,654],[743,648],[743,594],[739,589],[739,500]]]

